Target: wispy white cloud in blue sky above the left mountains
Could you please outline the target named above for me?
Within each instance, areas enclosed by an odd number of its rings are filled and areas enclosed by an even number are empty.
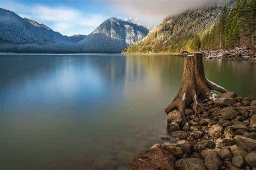
[[[105,20],[105,17],[101,15],[85,15],[79,10],[66,6],[50,7],[38,4],[1,2],[0,7],[14,11],[21,17],[44,23],[51,29],[68,36],[78,33],[87,35]]]

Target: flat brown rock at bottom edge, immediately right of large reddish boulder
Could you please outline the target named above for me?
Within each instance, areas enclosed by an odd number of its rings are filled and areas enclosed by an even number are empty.
[[[176,162],[176,166],[183,170],[206,170],[204,162],[198,158],[180,159]]]

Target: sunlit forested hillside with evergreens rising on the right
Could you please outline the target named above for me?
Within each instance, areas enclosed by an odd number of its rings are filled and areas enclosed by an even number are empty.
[[[124,52],[172,52],[255,44],[256,1],[237,0],[171,16]]]

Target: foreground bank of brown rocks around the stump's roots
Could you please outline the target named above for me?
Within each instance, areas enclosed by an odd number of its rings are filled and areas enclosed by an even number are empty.
[[[186,108],[167,115],[167,128],[176,140],[153,145],[140,153],[130,169],[256,169],[256,97],[234,92],[199,101],[205,110]]]

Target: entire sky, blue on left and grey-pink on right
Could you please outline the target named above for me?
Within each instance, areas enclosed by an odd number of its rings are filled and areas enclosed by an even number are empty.
[[[0,0],[0,8],[44,23],[63,35],[88,35],[107,18],[132,18],[150,29],[165,17],[228,0]]]

